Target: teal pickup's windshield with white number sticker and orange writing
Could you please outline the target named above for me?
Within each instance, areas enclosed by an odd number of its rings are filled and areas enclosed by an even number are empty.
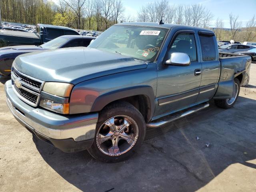
[[[88,47],[153,62],[168,29],[144,26],[112,26]]]

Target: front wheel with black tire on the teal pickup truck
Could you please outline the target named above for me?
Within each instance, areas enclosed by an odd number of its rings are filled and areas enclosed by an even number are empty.
[[[88,152],[103,162],[123,161],[142,145],[145,134],[142,114],[132,104],[118,102],[100,112],[94,142]]]

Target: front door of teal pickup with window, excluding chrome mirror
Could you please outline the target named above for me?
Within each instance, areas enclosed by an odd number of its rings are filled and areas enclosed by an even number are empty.
[[[154,119],[177,110],[187,108],[196,102],[201,82],[201,62],[198,61],[198,40],[193,30],[180,30],[174,34],[166,56],[174,52],[186,53],[190,56],[189,66],[158,65],[158,82],[156,92],[156,109]]]

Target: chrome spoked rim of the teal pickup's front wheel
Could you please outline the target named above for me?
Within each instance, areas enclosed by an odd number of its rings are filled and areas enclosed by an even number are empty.
[[[128,152],[138,139],[138,125],[129,116],[118,115],[106,120],[98,129],[96,144],[108,156]]]

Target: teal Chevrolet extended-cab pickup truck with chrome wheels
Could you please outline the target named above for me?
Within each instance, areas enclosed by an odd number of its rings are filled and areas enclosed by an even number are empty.
[[[220,57],[204,28],[121,23],[87,48],[18,56],[6,102],[39,139],[118,162],[142,145],[147,128],[207,108],[210,99],[232,107],[250,64],[250,56]]]

